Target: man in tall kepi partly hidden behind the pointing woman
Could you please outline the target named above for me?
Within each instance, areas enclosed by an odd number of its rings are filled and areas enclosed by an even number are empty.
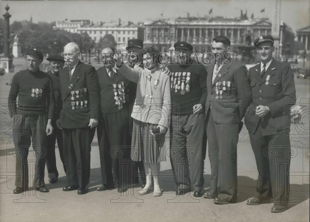
[[[127,42],[127,52],[128,52],[128,66],[135,69],[143,69],[143,64],[141,64],[141,56],[140,56],[140,50],[143,49],[143,41],[140,39],[130,39]],[[126,88],[127,90],[127,99],[128,103],[125,104],[126,108],[129,113],[129,118],[131,118],[131,112],[133,104],[135,103],[135,97],[136,97],[136,91],[137,91],[137,83],[129,81],[128,86]],[[130,121],[132,123],[132,121]],[[130,127],[130,133],[128,134],[129,144],[131,144],[131,136],[132,136],[132,125]],[[140,177],[142,180],[142,188],[144,188],[146,184],[146,177],[145,177],[145,169],[143,161],[134,161],[135,164],[135,172],[140,173]],[[139,183],[139,177],[135,177],[135,183]]]

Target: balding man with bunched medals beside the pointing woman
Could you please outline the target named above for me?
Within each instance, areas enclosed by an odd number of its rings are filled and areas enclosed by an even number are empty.
[[[126,79],[115,68],[115,62],[110,60],[110,55],[115,52],[114,47],[107,47],[102,50],[104,66],[97,69],[100,98],[101,98],[101,119],[97,126],[97,137],[100,152],[100,165],[102,185],[97,191],[104,191],[114,188],[114,180],[118,181],[118,192],[127,190],[126,173],[120,172],[120,158],[130,159],[131,136],[128,86],[132,82]],[[122,155],[117,155],[117,153]],[[113,174],[112,174],[113,169]],[[132,172],[131,172],[132,173]]]

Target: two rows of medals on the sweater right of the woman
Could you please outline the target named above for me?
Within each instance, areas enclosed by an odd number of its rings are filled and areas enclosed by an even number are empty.
[[[182,76],[182,78],[181,78]],[[186,76],[186,77],[185,77]],[[175,92],[177,93],[178,90],[181,90],[181,95],[185,94],[186,92],[189,92],[190,86],[189,81],[191,79],[191,73],[190,72],[175,72],[171,73],[171,79],[170,79],[170,88],[175,89]],[[186,85],[185,85],[185,83]]]

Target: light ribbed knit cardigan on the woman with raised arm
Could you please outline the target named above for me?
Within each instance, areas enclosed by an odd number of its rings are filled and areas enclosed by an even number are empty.
[[[170,77],[162,73],[161,70],[157,70],[149,81],[144,69],[133,69],[127,65],[122,65],[118,69],[127,79],[137,83],[136,99],[131,117],[168,128],[172,104]],[[155,80],[158,80],[156,89],[154,88]]]

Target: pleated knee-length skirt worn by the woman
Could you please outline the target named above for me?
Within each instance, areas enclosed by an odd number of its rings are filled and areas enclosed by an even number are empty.
[[[151,134],[157,124],[150,124],[133,119],[131,159],[146,163],[166,161],[165,135]]]

